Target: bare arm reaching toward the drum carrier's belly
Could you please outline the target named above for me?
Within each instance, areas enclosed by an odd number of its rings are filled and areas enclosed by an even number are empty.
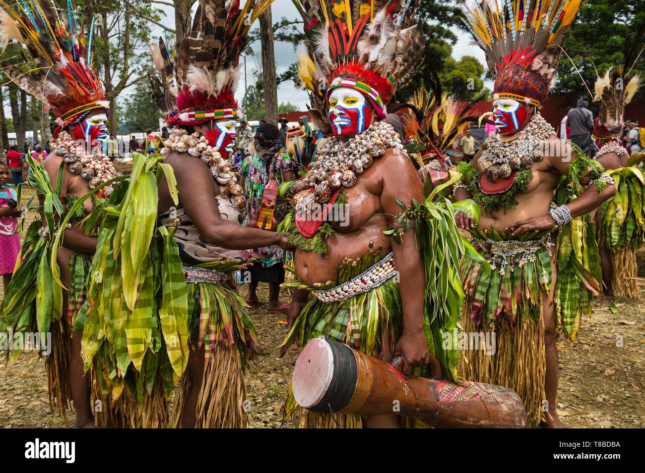
[[[212,174],[201,160],[170,158],[168,162],[172,163],[175,172],[181,205],[206,243],[230,250],[270,245],[290,248],[283,234],[224,220],[215,203]]]

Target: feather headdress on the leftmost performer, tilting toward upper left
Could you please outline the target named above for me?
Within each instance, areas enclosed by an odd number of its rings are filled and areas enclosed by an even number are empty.
[[[0,44],[20,42],[31,55],[31,60],[21,53],[21,62],[0,62],[2,70],[54,112],[54,134],[94,109],[109,108],[89,56],[92,34],[88,47],[69,1],[61,14],[38,0],[14,5],[0,0],[0,5]]]

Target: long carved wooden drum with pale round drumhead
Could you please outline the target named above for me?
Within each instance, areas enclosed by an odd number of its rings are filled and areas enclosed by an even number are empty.
[[[395,358],[393,365],[400,361]],[[439,364],[434,361],[431,368],[436,375]],[[393,365],[332,340],[313,339],[295,362],[293,396],[310,411],[362,415],[394,412],[419,418],[433,427],[527,425],[524,403],[508,387],[406,376]]]

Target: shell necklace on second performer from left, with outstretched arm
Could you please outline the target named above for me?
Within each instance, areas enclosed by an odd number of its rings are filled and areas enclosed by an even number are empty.
[[[244,189],[237,184],[237,178],[235,178],[228,160],[219,154],[217,147],[208,144],[206,136],[199,136],[197,131],[188,134],[186,130],[173,129],[170,132],[170,138],[164,140],[163,144],[164,148],[159,151],[162,156],[168,156],[171,151],[188,153],[206,163],[213,174],[213,179],[217,182],[219,195],[225,199],[228,198],[235,209],[243,212],[246,208]]]

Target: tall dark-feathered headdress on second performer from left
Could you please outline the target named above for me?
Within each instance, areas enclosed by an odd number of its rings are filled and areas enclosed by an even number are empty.
[[[175,56],[179,124],[237,118],[239,57],[251,25],[273,0],[199,0]],[[197,113],[196,113],[197,112]]]

